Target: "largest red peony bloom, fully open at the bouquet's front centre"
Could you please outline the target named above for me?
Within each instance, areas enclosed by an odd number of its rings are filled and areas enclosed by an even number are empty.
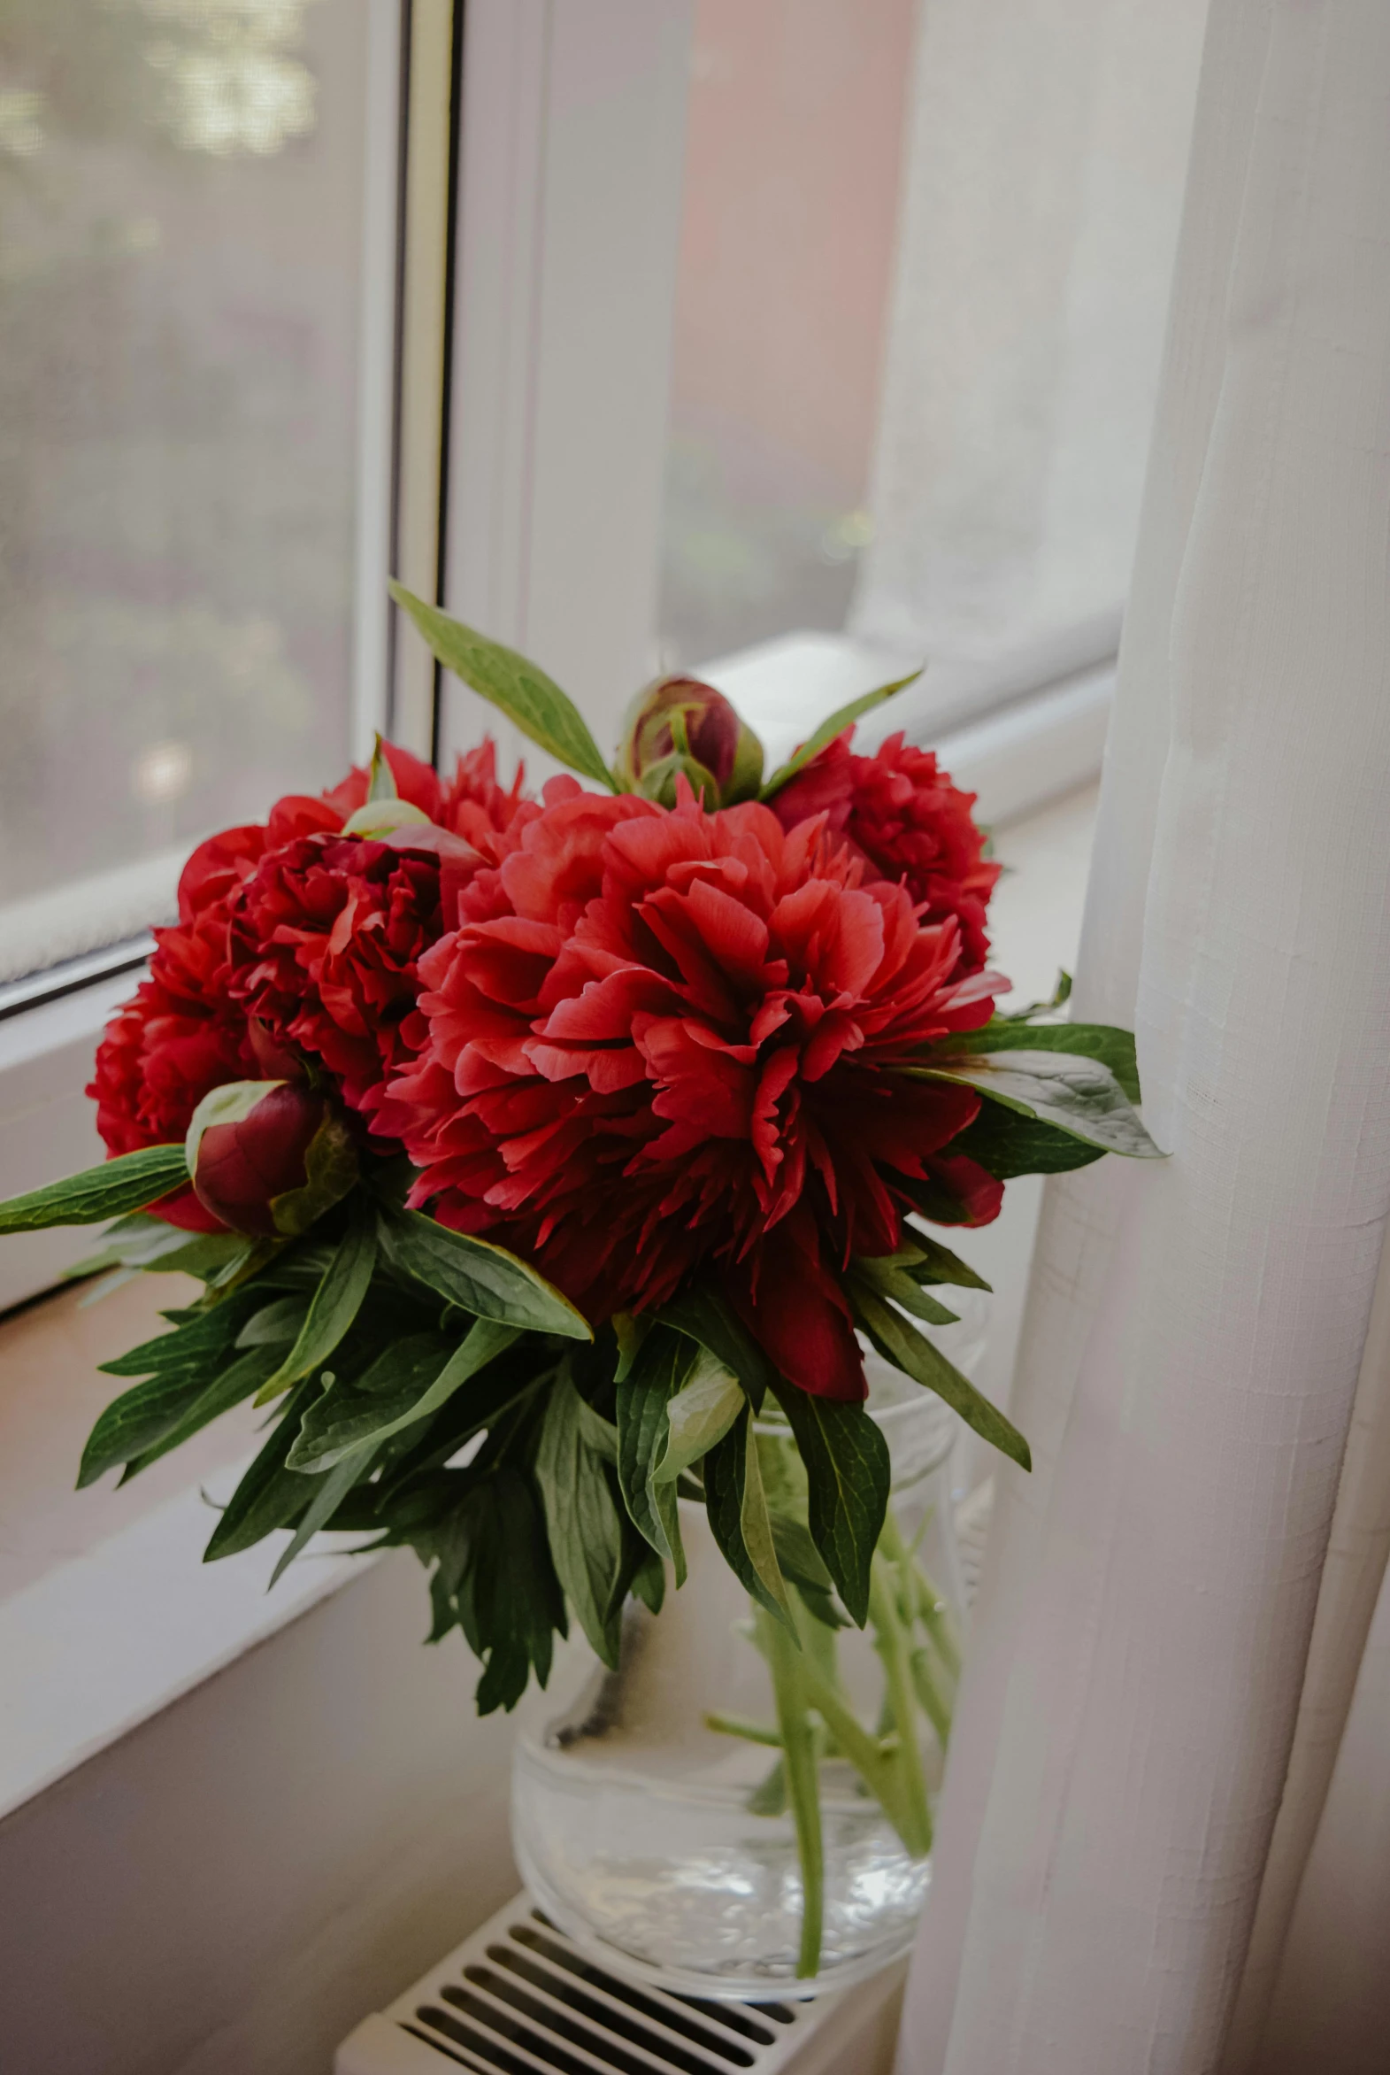
[[[919,928],[824,824],[674,811],[552,780],[546,811],[421,959],[419,1060],[373,1129],[413,1201],[535,1257],[593,1320],[714,1268],[803,1390],[861,1399],[836,1268],[898,1245],[934,1179],[971,1222],[1000,1185],[944,1150],[969,1089],[890,1069],[992,1011],[952,981],[954,919]]]

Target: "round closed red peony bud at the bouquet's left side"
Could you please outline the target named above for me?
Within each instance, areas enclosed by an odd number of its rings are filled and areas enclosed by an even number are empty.
[[[293,1081],[226,1081],[185,1141],[193,1191],[234,1233],[303,1233],[357,1181],[357,1152],[328,1100]]]

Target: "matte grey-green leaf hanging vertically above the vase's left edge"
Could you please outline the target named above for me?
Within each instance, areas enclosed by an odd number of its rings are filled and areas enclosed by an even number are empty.
[[[622,1619],[622,1515],[608,1469],[589,1448],[585,1403],[568,1376],[550,1392],[535,1453],[550,1560],[579,1627],[597,1656],[618,1668]]]

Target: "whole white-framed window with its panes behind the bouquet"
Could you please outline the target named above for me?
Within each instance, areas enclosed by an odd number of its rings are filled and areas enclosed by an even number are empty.
[[[604,743],[660,668],[778,755],[925,658],[869,741],[946,737],[996,822],[1089,778],[1203,15],[17,0],[0,1189],[95,1156],[91,1042],[205,828],[382,718],[544,776],[388,566]]]

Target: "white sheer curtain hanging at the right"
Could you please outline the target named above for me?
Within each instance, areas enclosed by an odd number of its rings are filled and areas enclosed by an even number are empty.
[[[1390,8],[1214,0],[1077,1002],[1172,1160],[1048,1189],[900,2075],[1386,2065],[1388,562]]]

